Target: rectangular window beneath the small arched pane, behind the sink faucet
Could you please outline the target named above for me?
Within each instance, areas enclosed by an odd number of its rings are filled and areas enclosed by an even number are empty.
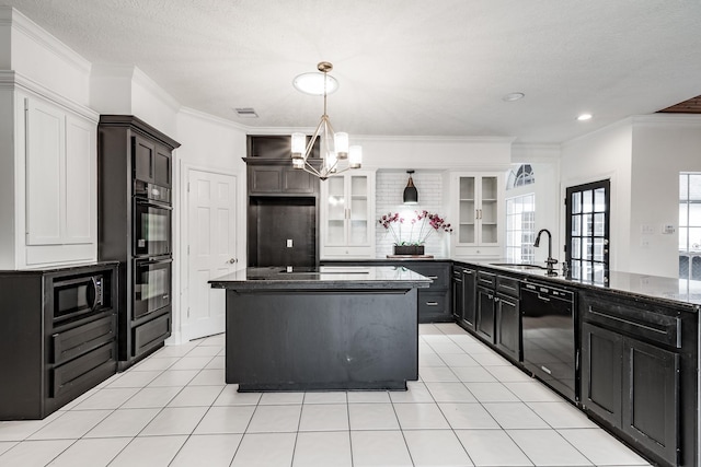
[[[506,200],[506,259],[532,264],[536,241],[536,195]]]

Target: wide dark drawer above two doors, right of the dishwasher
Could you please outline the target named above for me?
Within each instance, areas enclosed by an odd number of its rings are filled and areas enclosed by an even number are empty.
[[[585,322],[596,323],[637,339],[681,349],[680,316],[655,312],[655,305],[643,302],[602,301],[591,296],[585,297],[583,302]]]

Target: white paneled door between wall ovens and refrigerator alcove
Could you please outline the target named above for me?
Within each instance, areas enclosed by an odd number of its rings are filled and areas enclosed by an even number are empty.
[[[183,338],[225,330],[225,291],[207,281],[237,269],[237,178],[191,170],[187,184],[188,304]]]

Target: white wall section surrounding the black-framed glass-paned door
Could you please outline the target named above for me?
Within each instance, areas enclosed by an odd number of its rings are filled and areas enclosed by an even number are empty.
[[[630,266],[632,128],[630,119],[606,127],[562,147],[560,199],[565,189],[610,178],[610,269],[633,272]],[[564,244],[564,205],[560,242]]]

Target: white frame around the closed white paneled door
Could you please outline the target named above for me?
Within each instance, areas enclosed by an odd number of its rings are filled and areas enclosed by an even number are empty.
[[[226,175],[232,176],[237,179],[237,257],[239,258],[239,262],[243,260],[245,265],[246,252],[245,252],[245,241],[241,241],[241,238],[245,238],[246,232],[246,221],[245,221],[245,206],[248,202],[246,194],[245,194],[245,172],[243,172],[243,178],[240,172],[235,172],[232,170],[218,168],[218,167],[208,167],[204,165],[189,164],[183,161],[177,161],[177,164],[174,164],[174,167],[177,170],[179,174],[177,179],[179,186],[177,196],[173,200],[173,225],[176,227],[173,230],[173,294],[175,295],[175,300],[173,302],[173,326],[172,334],[166,343],[169,345],[179,345],[184,343],[183,340],[183,322],[184,322],[184,313],[187,313],[187,305],[189,303],[189,283],[188,283],[188,267],[189,260],[187,256],[187,248],[189,247],[189,234],[188,234],[188,223],[189,223],[189,195],[187,191],[187,183],[189,182],[192,172],[205,172],[216,175]],[[241,180],[243,179],[243,183]],[[241,236],[243,235],[243,236]],[[175,294],[175,291],[177,293]]]

